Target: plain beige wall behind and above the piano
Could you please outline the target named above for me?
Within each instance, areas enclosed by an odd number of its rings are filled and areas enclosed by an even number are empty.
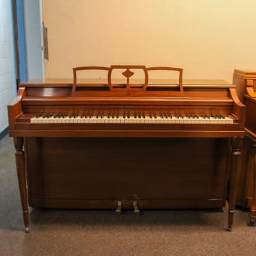
[[[234,68],[256,67],[255,0],[42,0],[42,10],[46,78],[136,64],[232,81]]]

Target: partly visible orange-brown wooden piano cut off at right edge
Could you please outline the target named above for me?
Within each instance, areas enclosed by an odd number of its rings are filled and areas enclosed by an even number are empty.
[[[251,207],[249,225],[253,225],[256,218],[256,70],[235,70],[233,81],[239,99],[246,105],[246,137],[238,170],[236,204]]]

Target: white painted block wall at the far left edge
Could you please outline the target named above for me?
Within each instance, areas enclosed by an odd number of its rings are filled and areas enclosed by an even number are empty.
[[[0,0],[0,132],[8,127],[6,106],[15,97],[10,0]]]

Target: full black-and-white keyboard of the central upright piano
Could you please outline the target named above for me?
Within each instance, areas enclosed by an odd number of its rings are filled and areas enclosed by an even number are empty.
[[[152,115],[152,116],[112,116],[112,115],[52,115],[46,114],[31,118],[31,123],[36,124],[232,124],[234,119],[227,116],[197,116],[197,115]]]

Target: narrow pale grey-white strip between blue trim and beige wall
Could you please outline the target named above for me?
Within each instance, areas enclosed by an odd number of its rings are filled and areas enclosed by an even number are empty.
[[[24,27],[28,79],[44,78],[40,0],[24,0]]]

